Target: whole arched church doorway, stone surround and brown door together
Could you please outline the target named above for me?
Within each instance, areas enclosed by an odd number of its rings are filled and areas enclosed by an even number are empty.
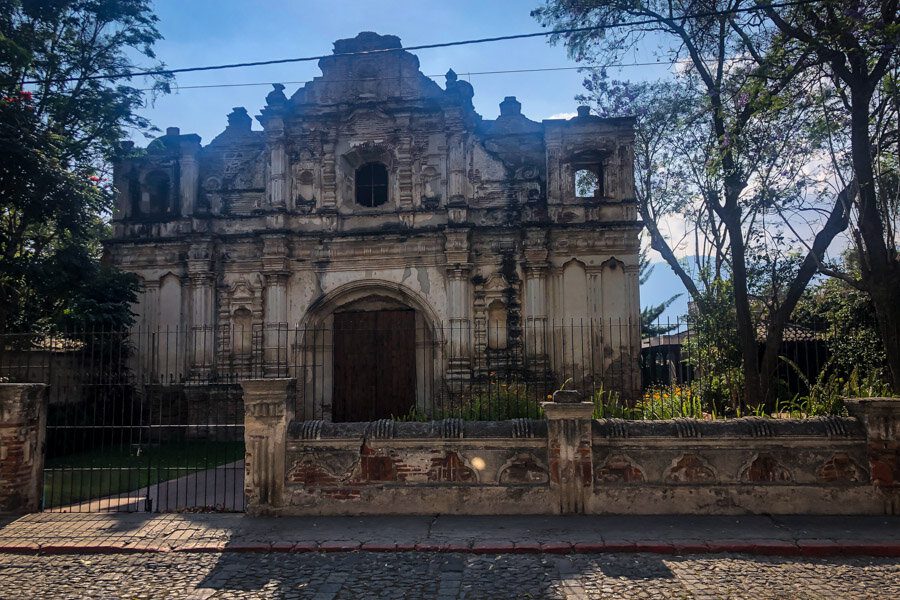
[[[314,303],[303,320],[305,418],[427,414],[440,364],[434,323],[422,298],[389,282],[353,282]]]

